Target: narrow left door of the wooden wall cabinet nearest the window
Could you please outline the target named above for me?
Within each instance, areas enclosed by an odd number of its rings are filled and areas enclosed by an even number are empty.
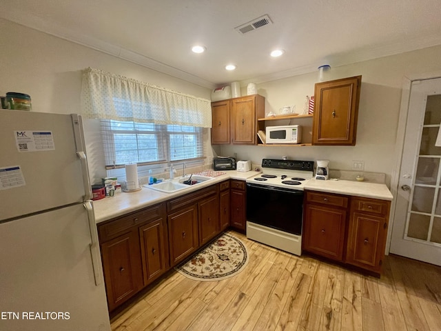
[[[230,142],[229,100],[212,103],[212,144]]]

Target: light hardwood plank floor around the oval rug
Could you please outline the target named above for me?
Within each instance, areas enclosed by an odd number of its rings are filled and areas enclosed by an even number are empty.
[[[173,271],[112,330],[441,330],[440,267],[389,255],[376,279],[230,233],[247,246],[243,272],[194,281]]]

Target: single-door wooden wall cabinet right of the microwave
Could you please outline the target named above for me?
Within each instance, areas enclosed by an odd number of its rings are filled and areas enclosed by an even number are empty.
[[[355,145],[361,76],[316,83],[313,145]]]

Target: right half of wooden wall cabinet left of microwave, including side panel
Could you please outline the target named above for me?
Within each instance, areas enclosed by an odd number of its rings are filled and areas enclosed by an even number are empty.
[[[260,117],[265,117],[265,97],[254,94],[231,99],[232,143],[256,145]]]

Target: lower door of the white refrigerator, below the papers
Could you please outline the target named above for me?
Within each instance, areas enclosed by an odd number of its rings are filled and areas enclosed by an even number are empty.
[[[83,203],[1,223],[0,330],[109,331],[97,240]]]

